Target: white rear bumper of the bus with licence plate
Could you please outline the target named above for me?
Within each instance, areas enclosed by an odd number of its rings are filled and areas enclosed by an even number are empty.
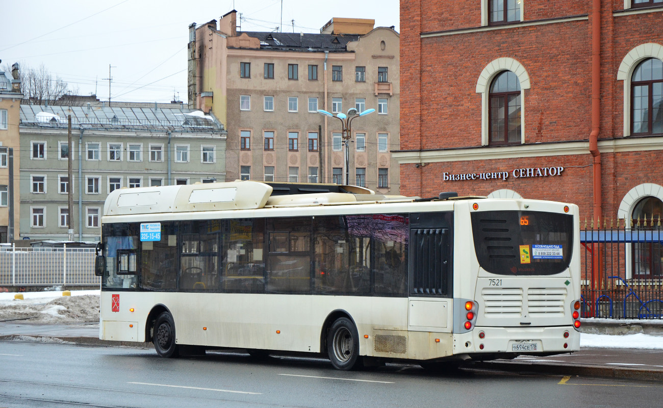
[[[456,338],[457,337],[457,338]],[[580,349],[580,333],[573,326],[488,327],[477,326],[454,336],[454,353],[556,354]]]

